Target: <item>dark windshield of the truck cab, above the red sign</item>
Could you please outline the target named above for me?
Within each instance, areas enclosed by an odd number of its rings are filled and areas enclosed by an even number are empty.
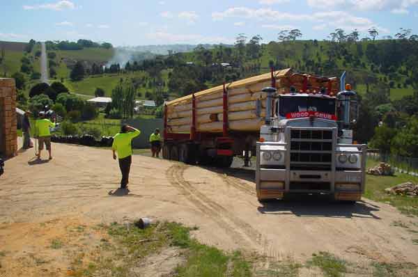
[[[284,96],[279,98],[279,115],[300,111],[320,111],[335,114],[335,99],[323,97]]]

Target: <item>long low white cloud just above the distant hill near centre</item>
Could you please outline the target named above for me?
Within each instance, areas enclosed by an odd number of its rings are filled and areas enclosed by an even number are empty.
[[[233,38],[211,37],[207,35],[194,34],[176,34],[167,33],[164,31],[157,31],[155,33],[148,33],[146,37],[150,40],[156,40],[157,43],[233,43]]]

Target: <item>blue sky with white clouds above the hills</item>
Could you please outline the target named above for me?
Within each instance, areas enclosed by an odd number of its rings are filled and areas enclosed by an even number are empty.
[[[0,0],[0,8],[0,40],[13,41],[232,43],[245,33],[268,42],[292,28],[322,40],[336,28],[362,38],[371,26],[380,38],[400,27],[418,33],[418,0]]]

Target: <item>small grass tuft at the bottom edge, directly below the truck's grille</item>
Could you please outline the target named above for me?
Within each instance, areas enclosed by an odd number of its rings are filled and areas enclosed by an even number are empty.
[[[347,262],[327,252],[313,254],[307,264],[319,267],[327,277],[340,277],[347,272]]]

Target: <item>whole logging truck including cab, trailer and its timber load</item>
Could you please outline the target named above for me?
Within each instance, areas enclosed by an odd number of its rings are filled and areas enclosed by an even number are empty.
[[[258,200],[359,200],[366,145],[353,144],[355,92],[343,83],[289,68],[167,102],[163,157],[229,167],[235,155],[256,155]]]

